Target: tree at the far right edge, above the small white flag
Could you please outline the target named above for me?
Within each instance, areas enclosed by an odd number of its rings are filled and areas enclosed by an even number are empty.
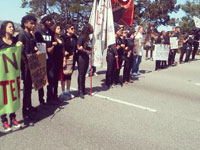
[[[196,30],[193,17],[200,18],[200,3],[198,1],[186,1],[185,4],[181,5],[181,9],[186,13],[186,16],[182,17],[179,21],[182,32],[193,33]]]

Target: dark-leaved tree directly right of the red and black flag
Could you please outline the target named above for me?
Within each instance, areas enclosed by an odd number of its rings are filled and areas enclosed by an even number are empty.
[[[174,25],[176,20],[169,14],[179,10],[176,3],[176,0],[135,0],[134,24]]]

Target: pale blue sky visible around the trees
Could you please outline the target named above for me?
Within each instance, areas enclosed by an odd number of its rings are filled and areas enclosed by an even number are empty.
[[[190,0],[192,1],[192,0]],[[177,0],[178,4],[184,4],[186,0]],[[21,18],[26,15],[26,12],[29,11],[28,8],[21,8],[21,0],[0,0],[0,20],[11,20],[17,23],[21,22]],[[179,11],[178,13],[172,13],[172,17],[181,18],[184,16],[183,11]],[[158,28],[161,30],[170,30],[171,27],[161,26]]]

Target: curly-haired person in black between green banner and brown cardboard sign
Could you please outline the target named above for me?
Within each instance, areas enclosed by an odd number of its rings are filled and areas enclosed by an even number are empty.
[[[23,44],[21,62],[22,80],[24,84],[22,114],[25,123],[26,121],[28,121],[27,119],[35,119],[35,115],[33,114],[33,112],[37,111],[37,109],[34,108],[31,103],[32,80],[28,67],[28,60],[26,58],[26,55],[34,54],[37,52],[35,47],[35,38],[32,34],[35,29],[36,22],[37,19],[34,16],[24,16],[21,20],[21,27],[23,28],[23,30],[18,35],[18,40],[21,41]]]

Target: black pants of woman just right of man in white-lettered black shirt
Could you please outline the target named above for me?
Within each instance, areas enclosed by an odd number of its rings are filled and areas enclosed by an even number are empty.
[[[58,97],[58,81],[59,81],[59,77],[60,77],[60,72],[62,70],[62,64],[63,64],[63,61],[62,61],[62,58],[57,58],[55,61],[54,61],[54,80],[53,80],[53,95],[54,95],[54,98],[57,98]]]

